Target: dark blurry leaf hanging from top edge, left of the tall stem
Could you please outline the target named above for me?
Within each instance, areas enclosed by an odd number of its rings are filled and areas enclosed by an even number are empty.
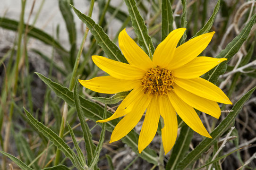
[[[68,35],[69,35],[69,42],[70,44],[76,43],[76,25],[74,22],[73,14],[71,11],[70,6],[68,5],[67,0],[59,0],[59,8],[60,12],[62,14],[62,17],[65,20],[66,27],[68,30]]]

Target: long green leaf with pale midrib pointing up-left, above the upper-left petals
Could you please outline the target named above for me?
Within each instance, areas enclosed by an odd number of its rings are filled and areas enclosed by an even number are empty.
[[[119,48],[112,42],[109,36],[103,31],[102,27],[94,22],[91,17],[86,16],[71,5],[77,16],[86,24],[94,35],[97,43],[102,47],[102,50],[106,53],[107,57],[117,61],[127,63],[127,60],[119,50]]]

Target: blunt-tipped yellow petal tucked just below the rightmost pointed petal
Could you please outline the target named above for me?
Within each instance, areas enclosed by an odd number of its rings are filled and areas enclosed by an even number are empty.
[[[197,96],[193,93],[184,90],[183,88],[179,87],[179,85],[173,85],[173,91],[179,96],[181,100],[187,103],[189,106],[203,111],[214,118],[219,119],[221,115],[221,109],[217,102],[205,99],[203,97]]]

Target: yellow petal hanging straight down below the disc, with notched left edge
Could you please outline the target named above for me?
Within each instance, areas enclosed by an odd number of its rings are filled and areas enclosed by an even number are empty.
[[[167,95],[160,97],[160,114],[164,121],[162,144],[167,154],[175,144],[178,132],[177,115]]]

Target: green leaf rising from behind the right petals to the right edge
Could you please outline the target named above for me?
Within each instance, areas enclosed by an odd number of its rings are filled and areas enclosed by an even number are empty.
[[[241,33],[236,38],[234,38],[226,46],[226,48],[222,50],[218,56],[216,56],[216,58],[227,58],[228,60],[230,60],[231,57],[233,57],[239,51],[243,42],[246,41],[251,31],[251,28],[255,23],[255,19],[256,19],[256,14],[254,14],[254,16],[251,17],[247,25],[242,29]],[[225,73],[226,69],[227,69],[227,61],[224,61],[218,66],[216,66],[215,68],[211,69],[208,73],[206,73],[203,76],[203,78],[215,84],[218,81],[218,77],[223,73]]]

